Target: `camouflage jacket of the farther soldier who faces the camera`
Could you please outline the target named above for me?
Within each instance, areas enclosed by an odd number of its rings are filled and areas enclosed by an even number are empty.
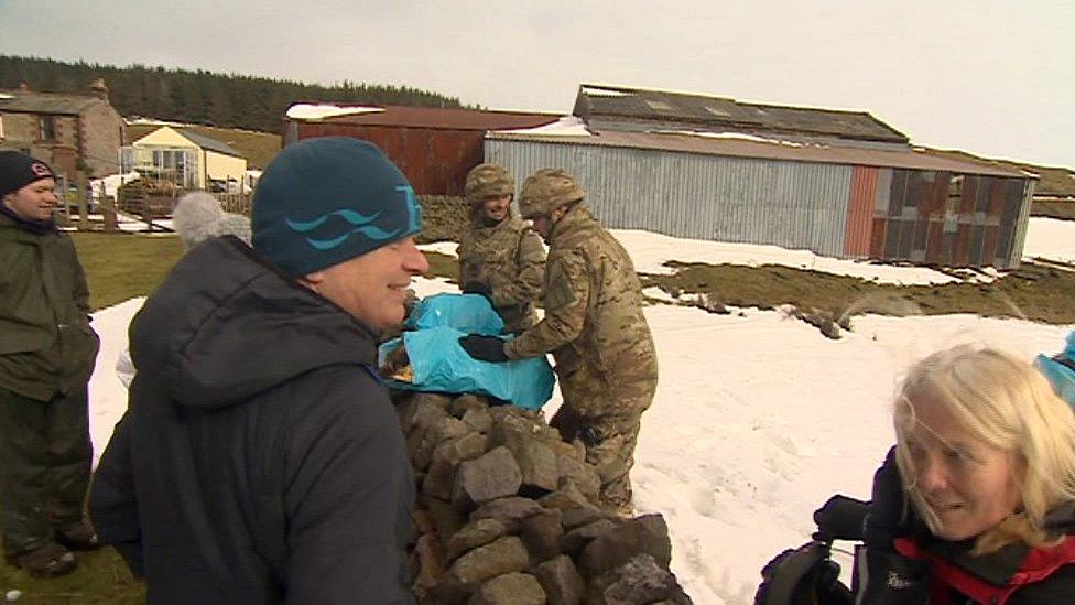
[[[545,249],[525,222],[509,215],[487,226],[475,213],[459,241],[459,284],[488,285],[508,332],[538,323],[534,304],[544,273]]]

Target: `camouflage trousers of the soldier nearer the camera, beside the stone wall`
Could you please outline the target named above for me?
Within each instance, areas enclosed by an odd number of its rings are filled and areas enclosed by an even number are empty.
[[[565,386],[561,383],[562,389]],[[564,441],[578,439],[583,442],[586,462],[597,468],[601,479],[598,494],[601,508],[622,516],[633,514],[630,472],[634,466],[634,446],[638,444],[642,412],[653,401],[656,383],[630,390],[633,392],[628,397],[616,397],[605,391],[600,397],[607,399],[607,406],[593,406],[593,398],[599,397],[594,390],[572,392],[567,388],[564,404],[549,422],[560,431]],[[609,411],[599,415],[583,415],[578,412],[578,406],[573,403],[576,397],[588,398],[586,410],[604,408]]]

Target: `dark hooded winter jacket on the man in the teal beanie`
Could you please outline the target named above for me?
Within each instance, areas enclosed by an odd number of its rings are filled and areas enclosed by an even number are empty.
[[[149,603],[413,602],[413,480],[373,333],[225,237],[130,335],[138,374],[90,515]]]

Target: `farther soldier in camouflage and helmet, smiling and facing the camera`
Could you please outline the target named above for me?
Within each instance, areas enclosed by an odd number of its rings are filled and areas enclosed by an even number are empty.
[[[508,332],[538,323],[534,303],[545,273],[545,249],[534,231],[511,214],[515,182],[498,164],[478,164],[467,174],[470,223],[459,241],[464,292],[486,294]]]

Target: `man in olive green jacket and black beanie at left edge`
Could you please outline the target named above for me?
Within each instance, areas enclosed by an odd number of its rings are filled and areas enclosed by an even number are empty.
[[[99,545],[83,504],[100,341],[75,246],[52,218],[55,188],[44,162],[0,152],[0,527],[7,562],[37,576]]]

